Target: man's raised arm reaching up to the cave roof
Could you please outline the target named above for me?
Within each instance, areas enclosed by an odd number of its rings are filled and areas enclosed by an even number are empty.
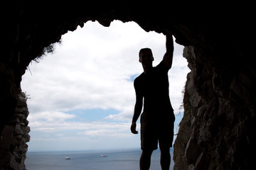
[[[174,57],[174,40],[172,35],[166,35],[166,53],[164,54],[163,62],[166,67],[171,69],[172,60]]]

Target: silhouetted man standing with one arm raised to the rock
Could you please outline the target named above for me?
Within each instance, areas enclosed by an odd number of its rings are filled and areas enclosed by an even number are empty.
[[[161,151],[161,169],[169,169],[171,164],[170,147],[174,139],[174,109],[169,98],[168,72],[171,69],[174,52],[172,35],[166,35],[166,53],[156,66],[151,49],[139,51],[139,62],[144,72],[134,80],[136,103],[132,118],[131,131],[137,134],[136,122],[141,115],[141,147],[140,169],[149,169],[151,154],[157,149]],[[143,101],[144,99],[144,101]],[[144,103],[144,105],[143,105]]]

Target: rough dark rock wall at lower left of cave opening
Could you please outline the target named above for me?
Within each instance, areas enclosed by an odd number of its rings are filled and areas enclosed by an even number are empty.
[[[18,103],[12,120],[4,126],[0,139],[0,169],[26,169],[24,164],[30,140],[28,132],[26,95],[18,94]]]

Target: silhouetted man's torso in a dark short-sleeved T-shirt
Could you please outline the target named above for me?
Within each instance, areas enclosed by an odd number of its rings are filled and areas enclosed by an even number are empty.
[[[152,115],[152,118],[173,115],[174,110],[169,98],[168,71],[169,69],[161,62],[153,67],[151,72],[142,73],[134,80],[136,94],[144,97],[144,113]]]

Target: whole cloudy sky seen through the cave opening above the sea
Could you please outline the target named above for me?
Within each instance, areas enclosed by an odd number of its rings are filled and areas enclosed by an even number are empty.
[[[28,152],[140,148],[139,134],[130,132],[133,81],[143,72],[138,53],[150,47],[156,66],[166,52],[165,40],[121,21],[108,28],[88,21],[63,35],[53,54],[31,62],[22,77],[31,128]],[[183,117],[181,91],[190,72],[182,53],[183,46],[175,43],[169,70],[174,131]]]

